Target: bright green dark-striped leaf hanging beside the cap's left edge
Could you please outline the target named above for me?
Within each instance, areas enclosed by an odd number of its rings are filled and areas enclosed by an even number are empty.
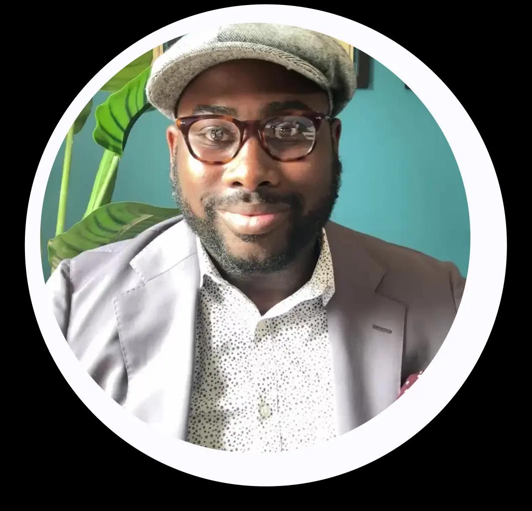
[[[137,119],[151,105],[146,98],[146,83],[151,67],[111,94],[96,108],[94,140],[115,154],[122,156],[127,138]]]

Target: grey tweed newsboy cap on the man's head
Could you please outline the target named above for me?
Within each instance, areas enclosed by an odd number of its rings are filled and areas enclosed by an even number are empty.
[[[265,60],[301,73],[327,92],[333,116],[354,95],[353,61],[334,38],[288,25],[238,23],[187,34],[158,57],[146,85],[148,101],[173,120],[179,97],[198,74],[240,58]]]

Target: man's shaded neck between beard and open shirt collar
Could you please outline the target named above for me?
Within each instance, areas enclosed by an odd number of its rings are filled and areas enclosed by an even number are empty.
[[[217,266],[220,275],[244,293],[264,315],[274,305],[293,295],[312,277],[319,257],[317,238],[304,247],[296,258],[278,272],[260,275],[232,275]]]

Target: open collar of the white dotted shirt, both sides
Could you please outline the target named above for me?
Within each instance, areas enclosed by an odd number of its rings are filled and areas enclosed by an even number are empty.
[[[322,304],[325,307],[332,298],[332,295],[334,295],[335,285],[332,257],[330,254],[329,243],[327,241],[327,234],[323,228],[321,232],[320,255],[316,266],[314,267],[314,271],[312,272],[312,277],[302,288],[298,289],[289,298],[290,300],[297,299],[297,301],[303,301],[321,296]],[[200,288],[203,287],[205,275],[222,286],[230,286],[229,282],[223,279],[216,266],[214,266],[211,257],[207,254],[200,238],[197,236],[196,245],[200,265]]]

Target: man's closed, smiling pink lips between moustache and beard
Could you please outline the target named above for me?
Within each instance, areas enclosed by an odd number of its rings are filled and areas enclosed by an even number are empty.
[[[229,228],[238,234],[266,234],[286,220],[289,210],[248,207],[235,211],[219,210],[219,213]]]

